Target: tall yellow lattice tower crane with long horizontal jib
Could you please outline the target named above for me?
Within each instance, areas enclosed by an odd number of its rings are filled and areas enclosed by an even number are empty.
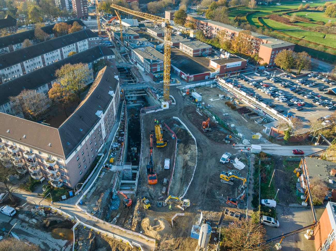
[[[97,0],[96,0],[97,1]],[[132,14],[134,16],[142,17],[144,19],[151,20],[153,22],[159,23],[165,29],[165,52],[164,52],[164,60],[163,60],[163,98],[164,101],[169,101],[169,81],[170,81],[170,37],[171,30],[178,30],[183,32],[190,33],[190,37],[196,36],[196,31],[190,29],[189,27],[174,23],[173,21],[169,21],[163,17],[130,10],[124,7],[121,7],[116,4],[111,4],[112,8],[115,8],[120,11],[124,11],[126,13]]]

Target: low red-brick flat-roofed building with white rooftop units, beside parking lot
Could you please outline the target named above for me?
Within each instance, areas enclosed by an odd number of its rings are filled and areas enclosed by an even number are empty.
[[[247,60],[236,55],[225,52],[219,59],[211,59],[209,66],[215,70],[219,69],[218,75],[244,70]]]

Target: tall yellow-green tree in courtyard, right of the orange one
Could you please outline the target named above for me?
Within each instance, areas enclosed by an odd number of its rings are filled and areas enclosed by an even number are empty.
[[[55,74],[64,88],[73,94],[77,94],[78,98],[80,98],[82,91],[86,87],[89,72],[87,64],[68,63],[57,69]],[[79,102],[78,100],[78,104]]]

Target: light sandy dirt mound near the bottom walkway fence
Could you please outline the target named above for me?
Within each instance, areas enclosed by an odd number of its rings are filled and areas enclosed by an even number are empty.
[[[164,234],[171,234],[172,230],[167,220],[161,218],[146,217],[141,222],[145,235],[160,240]]]

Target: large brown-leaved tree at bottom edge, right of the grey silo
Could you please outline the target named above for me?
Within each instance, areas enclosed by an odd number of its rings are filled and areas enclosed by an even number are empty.
[[[234,220],[228,227],[222,229],[225,242],[224,246],[230,251],[267,251],[267,245],[262,245],[266,237],[265,228],[259,222]]]

